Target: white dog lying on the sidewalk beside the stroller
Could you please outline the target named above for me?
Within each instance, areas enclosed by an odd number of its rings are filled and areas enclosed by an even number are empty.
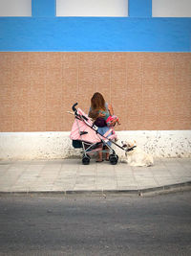
[[[122,159],[122,162],[128,163],[130,166],[152,166],[154,164],[153,156],[138,148],[136,141],[121,143],[126,150],[126,157]]]

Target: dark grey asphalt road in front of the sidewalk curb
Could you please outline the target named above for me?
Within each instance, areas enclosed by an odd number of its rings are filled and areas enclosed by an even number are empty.
[[[191,192],[0,197],[0,255],[191,255]]]

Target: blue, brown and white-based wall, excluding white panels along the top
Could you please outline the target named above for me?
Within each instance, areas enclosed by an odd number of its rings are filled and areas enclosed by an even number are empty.
[[[114,105],[119,138],[190,156],[191,18],[154,18],[151,0],[129,0],[128,17],[56,17],[55,2],[0,17],[0,158],[75,154],[66,111],[87,112],[95,91]]]

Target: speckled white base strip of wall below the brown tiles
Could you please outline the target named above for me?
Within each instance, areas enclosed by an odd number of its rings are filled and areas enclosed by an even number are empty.
[[[1,132],[0,159],[55,159],[76,156],[69,131]],[[134,139],[154,157],[191,157],[191,130],[118,131],[118,141]],[[118,156],[124,151],[114,147]]]

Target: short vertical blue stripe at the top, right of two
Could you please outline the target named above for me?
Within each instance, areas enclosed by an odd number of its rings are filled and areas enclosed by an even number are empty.
[[[151,17],[152,0],[129,0],[128,14],[129,17]]]

